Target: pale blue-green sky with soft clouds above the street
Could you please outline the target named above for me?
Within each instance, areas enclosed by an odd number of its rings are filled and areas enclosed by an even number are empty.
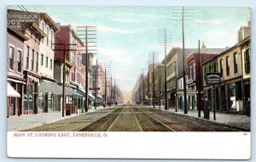
[[[61,25],[96,25],[97,58],[112,61],[112,73],[124,90],[131,92],[140,73],[147,71],[148,52],[164,58],[164,48],[157,41],[158,29],[169,28],[172,46],[181,47],[181,21],[174,21],[177,7],[88,7],[25,6],[29,11],[45,12]],[[17,7],[15,7],[17,8]],[[186,8],[186,7],[185,7]],[[237,31],[250,20],[249,8],[197,8],[192,20],[185,21],[185,47],[231,47],[237,42]],[[169,46],[168,49],[171,49]]]

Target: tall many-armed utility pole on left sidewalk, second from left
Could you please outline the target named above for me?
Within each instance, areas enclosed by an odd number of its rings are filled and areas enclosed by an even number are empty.
[[[96,49],[88,49],[88,47],[96,47],[95,45],[88,45],[88,44],[91,44],[91,43],[96,43],[96,33],[93,33],[93,32],[96,32],[95,28],[96,26],[88,26],[88,25],[85,25],[85,26],[78,26],[79,28],[83,28],[84,30],[82,30],[82,32],[84,33],[80,33],[78,34],[78,36],[81,36],[79,37],[81,40],[84,40],[84,44],[85,44],[85,94],[84,94],[84,98],[85,98],[85,112],[88,112],[88,69],[89,69],[89,60],[88,60],[88,55],[89,54],[92,54],[92,53],[89,53],[89,51],[96,51]],[[79,32],[79,31],[78,31]],[[91,41],[91,40],[95,40],[95,41]]]

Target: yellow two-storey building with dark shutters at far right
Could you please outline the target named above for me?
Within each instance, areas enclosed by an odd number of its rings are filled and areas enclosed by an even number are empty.
[[[251,38],[249,33],[245,35],[247,37],[243,36],[236,45],[202,64],[204,76],[212,72],[221,76],[221,83],[214,90],[204,77],[204,92],[215,103],[217,111],[250,115]]]

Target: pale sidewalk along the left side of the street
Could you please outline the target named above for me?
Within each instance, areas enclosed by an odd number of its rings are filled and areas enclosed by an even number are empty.
[[[107,107],[109,108],[109,107]],[[107,109],[101,107],[90,107],[87,113],[95,112],[100,109]],[[77,115],[84,115],[78,112],[78,114],[72,114],[65,117],[62,117],[61,112],[54,112],[54,113],[40,113],[36,115],[20,115],[20,116],[11,116],[7,118],[7,131],[25,131],[28,129],[32,129],[37,126],[43,126],[49,123],[53,123],[59,120],[66,120],[73,116]]]

